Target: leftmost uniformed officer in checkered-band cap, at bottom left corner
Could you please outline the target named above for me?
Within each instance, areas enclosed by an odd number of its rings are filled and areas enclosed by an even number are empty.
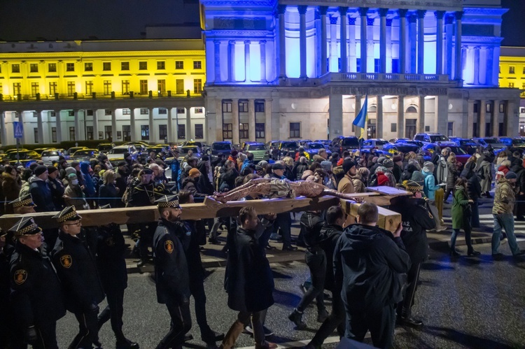
[[[23,217],[15,232],[15,252],[10,260],[10,304],[25,343],[33,348],[58,348],[57,320],[66,315],[55,269],[39,248],[42,229],[33,218]]]

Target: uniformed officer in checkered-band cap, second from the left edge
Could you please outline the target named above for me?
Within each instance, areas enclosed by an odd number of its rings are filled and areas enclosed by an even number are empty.
[[[78,237],[82,217],[75,206],[68,206],[54,215],[60,225],[57,243],[51,252],[57,269],[67,310],[78,320],[78,334],[69,348],[91,348],[98,342],[97,315],[104,290],[90,247]]]

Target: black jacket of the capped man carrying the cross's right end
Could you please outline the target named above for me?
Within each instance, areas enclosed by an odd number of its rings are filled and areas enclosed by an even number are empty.
[[[428,257],[426,230],[435,228],[435,220],[424,200],[397,197],[390,209],[401,215],[401,238],[410,260],[414,264],[424,262]]]

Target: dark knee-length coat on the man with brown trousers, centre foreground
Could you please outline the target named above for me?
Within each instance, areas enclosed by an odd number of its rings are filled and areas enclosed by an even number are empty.
[[[272,269],[255,231],[237,228],[228,252],[225,289],[234,311],[262,311],[274,304]]]

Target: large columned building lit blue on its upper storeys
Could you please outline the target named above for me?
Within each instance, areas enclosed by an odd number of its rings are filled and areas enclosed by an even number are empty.
[[[399,3],[402,2],[400,7]],[[517,134],[499,0],[201,0],[209,140]]]

